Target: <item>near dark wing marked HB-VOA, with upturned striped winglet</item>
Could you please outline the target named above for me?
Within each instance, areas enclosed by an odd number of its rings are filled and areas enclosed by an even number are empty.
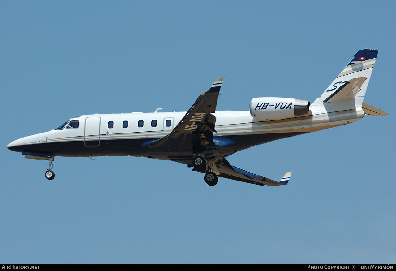
[[[158,151],[190,153],[191,157],[196,153],[218,151],[213,142],[216,117],[211,113],[216,111],[222,83],[223,77],[217,78],[211,88],[198,97],[168,136],[148,144],[147,147]],[[174,160],[184,160],[182,157],[179,158],[181,159]]]

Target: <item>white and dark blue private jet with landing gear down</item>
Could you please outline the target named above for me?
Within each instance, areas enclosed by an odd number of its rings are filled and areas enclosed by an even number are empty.
[[[187,112],[93,114],[70,118],[49,132],[17,139],[8,149],[25,158],[55,156],[139,156],[187,164],[205,174],[208,185],[219,177],[255,185],[286,185],[291,172],[274,181],[232,166],[228,156],[291,136],[350,124],[366,114],[387,113],[363,103],[377,50],[358,51],[345,69],[313,103],[301,99],[258,97],[249,111],[216,111],[223,77],[202,93]]]

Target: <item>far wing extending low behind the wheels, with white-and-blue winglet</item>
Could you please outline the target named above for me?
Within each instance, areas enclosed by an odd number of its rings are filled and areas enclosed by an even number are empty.
[[[287,172],[280,181],[274,181],[251,172],[247,172],[246,170],[237,168],[236,166],[232,166],[225,158],[217,160],[214,164],[212,172],[217,174],[217,176],[255,185],[286,185],[291,176],[291,172]]]

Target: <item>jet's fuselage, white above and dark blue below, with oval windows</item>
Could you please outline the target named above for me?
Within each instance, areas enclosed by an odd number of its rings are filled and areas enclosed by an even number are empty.
[[[213,141],[227,154],[231,150],[240,151],[282,137],[348,124],[364,116],[362,109],[332,113],[327,113],[322,107],[318,109],[317,114],[313,106],[307,115],[270,121],[257,120],[249,111],[216,111],[213,115],[216,116],[217,134],[214,134]],[[144,143],[167,136],[184,115],[185,112],[82,115],[69,120],[78,120],[78,128],[65,126],[63,129],[23,137],[11,142],[8,148],[20,152],[54,152],[55,156],[153,155],[152,157],[167,159],[164,153],[146,151]],[[271,134],[277,136],[270,137]],[[111,146],[107,146],[110,142],[114,151]],[[114,142],[117,144],[114,145]],[[60,147],[66,143],[69,143],[68,147]],[[72,143],[80,144],[73,149],[77,145]]]

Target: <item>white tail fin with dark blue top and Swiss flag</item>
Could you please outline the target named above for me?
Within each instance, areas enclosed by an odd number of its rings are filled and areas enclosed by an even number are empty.
[[[378,51],[372,49],[357,52],[327,90],[314,101],[314,104],[354,99],[356,108],[362,108],[377,54]]]

